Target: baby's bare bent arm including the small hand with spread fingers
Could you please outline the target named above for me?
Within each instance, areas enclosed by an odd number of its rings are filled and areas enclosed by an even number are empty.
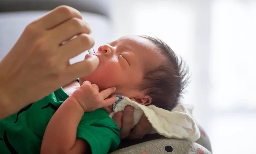
[[[97,108],[112,105],[116,98],[115,96],[108,98],[108,96],[115,90],[115,87],[111,87],[99,92],[97,85],[85,81],[54,113],[45,130],[41,153],[82,154],[86,151],[91,153],[91,146],[87,141],[76,138],[78,124],[84,112],[91,112]],[[90,138],[87,136],[87,139]],[[98,143],[96,144],[98,145]]]

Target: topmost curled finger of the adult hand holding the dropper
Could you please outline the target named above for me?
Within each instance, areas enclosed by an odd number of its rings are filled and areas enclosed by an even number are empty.
[[[73,17],[82,19],[82,15],[78,10],[63,5],[48,12],[34,23],[41,25],[44,29],[52,29],[53,27],[56,27],[57,25]]]

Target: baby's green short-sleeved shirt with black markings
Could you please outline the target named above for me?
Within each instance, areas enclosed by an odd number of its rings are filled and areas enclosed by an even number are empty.
[[[1,120],[0,154],[39,154],[48,122],[68,97],[60,88]],[[114,151],[120,143],[119,128],[101,108],[84,113],[76,137],[86,140],[93,154]]]

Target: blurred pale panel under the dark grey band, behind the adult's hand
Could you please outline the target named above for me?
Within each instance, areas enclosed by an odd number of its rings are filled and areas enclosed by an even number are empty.
[[[41,17],[47,11],[26,11],[0,13],[0,60],[11,50],[25,27],[33,20]],[[83,20],[92,28],[95,39],[95,48],[113,39],[111,23],[106,16],[94,13],[81,12]]]

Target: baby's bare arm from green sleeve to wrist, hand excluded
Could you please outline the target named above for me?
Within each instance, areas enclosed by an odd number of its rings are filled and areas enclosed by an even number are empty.
[[[54,113],[47,125],[41,145],[41,154],[79,154],[90,151],[89,144],[76,138],[79,122],[84,114],[80,104],[69,97]]]

